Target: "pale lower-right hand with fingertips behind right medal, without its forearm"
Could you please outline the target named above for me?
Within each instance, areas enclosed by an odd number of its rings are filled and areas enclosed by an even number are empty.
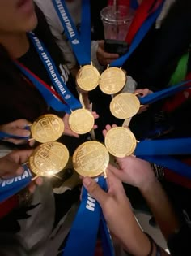
[[[116,125],[112,127],[116,127]],[[106,126],[103,131],[104,137],[112,127]],[[118,168],[108,165],[108,171],[114,173],[122,182],[140,189],[155,180],[155,173],[150,163],[134,156],[116,158],[116,160]]]

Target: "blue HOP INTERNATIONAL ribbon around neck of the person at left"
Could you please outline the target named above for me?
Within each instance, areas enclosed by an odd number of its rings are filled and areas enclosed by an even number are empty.
[[[61,75],[57,71],[57,67],[55,63],[53,63],[53,59],[49,55],[48,50],[46,50],[44,44],[39,40],[38,37],[35,36],[34,33],[28,33],[33,45],[36,48],[37,53],[40,56],[42,63],[44,64],[46,71],[49,74],[50,79],[52,80],[53,87],[56,89],[56,92],[62,98],[62,101],[55,97],[55,93],[53,93],[53,89],[49,89],[49,86],[45,85],[45,83],[39,79],[39,77],[35,76],[32,72],[28,70],[27,67],[24,67],[21,63],[15,61],[15,64],[19,69],[23,72],[25,76],[28,77],[29,80],[32,81],[33,85],[39,89],[42,96],[45,98],[45,101],[49,106],[51,106],[56,111],[64,111],[70,114],[71,110],[76,110],[82,107],[80,102],[74,98],[70,90],[67,89],[65,82],[62,80]]]

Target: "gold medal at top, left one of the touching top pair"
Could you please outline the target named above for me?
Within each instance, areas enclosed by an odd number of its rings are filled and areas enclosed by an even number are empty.
[[[77,85],[84,91],[91,91],[99,84],[100,73],[93,65],[85,65],[79,69],[76,76]]]

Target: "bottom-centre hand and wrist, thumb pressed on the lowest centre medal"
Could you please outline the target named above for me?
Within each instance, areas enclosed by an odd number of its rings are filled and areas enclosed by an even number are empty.
[[[107,171],[108,193],[91,178],[83,178],[83,186],[99,202],[104,218],[112,235],[124,245],[130,254],[147,255],[150,242],[142,233],[134,218],[129,199],[126,197],[121,180]]]

